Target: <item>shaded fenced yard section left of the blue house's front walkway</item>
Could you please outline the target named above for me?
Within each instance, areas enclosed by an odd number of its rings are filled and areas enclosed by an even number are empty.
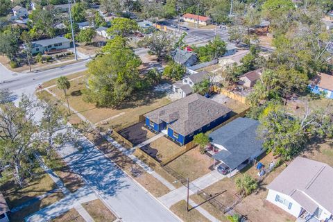
[[[130,141],[133,146],[137,146],[142,142],[145,142],[147,139],[154,137],[155,134],[151,133],[150,130],[144,127],[144,121],[137,123],[128,128],[124,128],[118,132],[121,136],[125,137]]]

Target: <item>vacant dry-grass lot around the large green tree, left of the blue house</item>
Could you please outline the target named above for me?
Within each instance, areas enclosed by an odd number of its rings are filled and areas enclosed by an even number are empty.
[[[69,105],[89,121],[104,129],[120,130],[130,126],[139,120],[140,115],[171,102],[164,92],[139,92],[133,94],[132,98],[117,108],[99,108],[93,103],[83,101],[84,88],[85,78],[71,81],[71,88],[67,92]],[[63,92],[57,87],[51,87],[49,90],[56,94],[58,99],[65,101]]]

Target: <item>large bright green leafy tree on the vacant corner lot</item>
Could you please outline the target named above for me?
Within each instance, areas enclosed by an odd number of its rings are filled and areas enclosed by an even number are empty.
[[[85,99],[100,106],[120,105],[137,86],[139,65],[141,60],[132,50],[111,48],[89,62]]]

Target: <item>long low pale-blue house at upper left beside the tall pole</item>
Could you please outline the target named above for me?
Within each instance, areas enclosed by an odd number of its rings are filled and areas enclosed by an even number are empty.
[[[53,37],[52,39],[39,40],[32,42],[32,53],[44,53],[45,51],[55,49],[69,49],[71,48],[71,40],[65,37]]]

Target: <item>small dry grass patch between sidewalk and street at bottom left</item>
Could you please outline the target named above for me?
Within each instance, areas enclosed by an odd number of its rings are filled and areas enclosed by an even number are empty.
[[[82,206],[96,222],[114,221],[117,219],[117,216],[114,216],[99,199],[83,203]]]

